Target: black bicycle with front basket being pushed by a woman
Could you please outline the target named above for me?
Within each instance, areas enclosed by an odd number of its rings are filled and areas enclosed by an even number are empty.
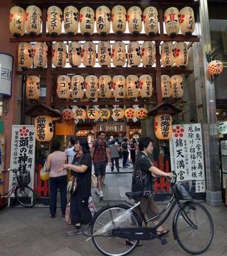
[[[161,177],[157,176],[154,179],[157,182]],[[99,252],[107,256],[127,255],[135,249],[140,240],[159,239],[161,244],[166,244],[165,238],[157,236],[156,228],[166,221],[175,205],[178,205],[178,209],[173,217],[174,239],[177,239],[179,245],[188,253],[196,255],[205,252],[214,236],[212,218],[207,209],[203,205],[194,202],[187,191],[182,193],[183,191],[175,186],[176,181],[176,174],[174,174],[171,182],[168,180],[172,188],[172,197],[165,208],[153,218],[146,220],[140,202],[137,202],[137,198],[142,195],[142,191],[126,193],[129,199],[135,200],[135,205],[131,208],[128,205],[116,204],[100,209],[94,216],[90,237]],[[180,202],[184,198],[189,200]],[[133,210],[136,207],[145,223],[145,227],[142,227],[141,218]],[[168,209],[169,207],[170,209]],[[148,223],[159,218],[167,209],[168,211],[159,223],[154,227],[149,227]],[[128,246],[126,239],[134,240],[135,243]]]

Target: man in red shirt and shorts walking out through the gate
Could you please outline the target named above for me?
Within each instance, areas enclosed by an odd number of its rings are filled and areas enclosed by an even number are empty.
[[[108,145],[105,141],[106,134],[100,131],[98,134],[98,140],[95,140],[92,145],[91,157],[94,163],[94,173],[97,177],[97,188],[96,193],[99,195],[100,200],[103,200],[102,191],[102,180],[105,179],[106,174],[106,159],[109,161],[110,167],[112,167],[112,162],[110,159],[110,153],[108,150]]]

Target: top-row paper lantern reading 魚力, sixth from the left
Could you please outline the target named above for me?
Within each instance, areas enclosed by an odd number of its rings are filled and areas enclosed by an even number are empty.
[[[111,12],[107,6],[99,6],[96,9],[96,29],[99,35],[110,33]]]

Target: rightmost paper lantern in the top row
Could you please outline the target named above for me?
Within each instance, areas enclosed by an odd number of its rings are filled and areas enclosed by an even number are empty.
[[[195,20],[193,8],[187,6],[180,10],[180,31],[183,35],[191,35],[194,32]]]

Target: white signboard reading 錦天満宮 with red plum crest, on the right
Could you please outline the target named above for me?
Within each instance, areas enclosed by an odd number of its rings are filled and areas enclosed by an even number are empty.
[[[196,180],[196,192],[205,192],[203,141],[200,124],[173,125],[170,139],[172,170],[177,181]]]

